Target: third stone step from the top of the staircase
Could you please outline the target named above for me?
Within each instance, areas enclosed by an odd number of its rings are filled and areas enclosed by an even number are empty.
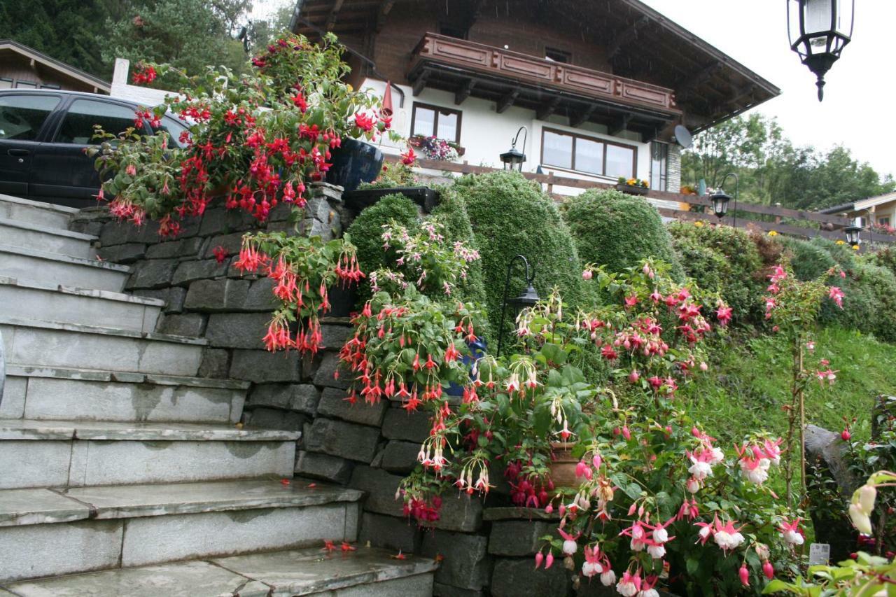
[[[0,276],[120,292],[131,275],[126,265],[0,244]]]

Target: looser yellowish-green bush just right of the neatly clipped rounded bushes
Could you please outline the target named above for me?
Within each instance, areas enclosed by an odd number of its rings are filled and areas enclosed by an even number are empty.
[[[762,257],[747,232],[689,222],[672,222],[668,231],[685,273],[703,290],[719,292],[736,322],[762,317]]]

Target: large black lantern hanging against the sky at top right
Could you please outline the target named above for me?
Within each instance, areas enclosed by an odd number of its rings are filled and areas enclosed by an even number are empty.
[[[852,38],[855,11],[855,0],[788,0],[790,48],[818,77],[819,101],[824,98],[824,74]]]

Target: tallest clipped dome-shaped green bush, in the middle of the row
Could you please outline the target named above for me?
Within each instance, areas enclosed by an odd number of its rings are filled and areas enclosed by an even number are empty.
[[[525,255],[535,266],[541,297],[557,286],[571,308],[585,307],[582,264],[563,219],[550,197],[519,173],[495,172],[457,180],[482,255],[488,318],[498,329],[507,264]],[[522,264],[514,264],[509,296],[525,290]],[[508,316],[512,320],[513,316]],[[506,322],[505,322],[506,325]]]

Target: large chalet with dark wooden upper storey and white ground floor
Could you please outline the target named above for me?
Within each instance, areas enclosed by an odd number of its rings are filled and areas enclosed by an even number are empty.
[[[661,191],[681,182],[676,125],[699,133],[780,93],[638,0],[298,0],[291,29],[336,33],[356,87],[392,82],[400,134],[501,167],[525,125],[526,171]]]

